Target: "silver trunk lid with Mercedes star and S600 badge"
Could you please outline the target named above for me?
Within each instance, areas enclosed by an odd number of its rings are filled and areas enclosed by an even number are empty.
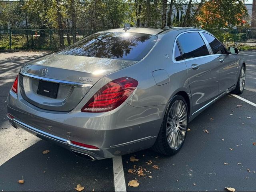
[[[31,104],[54,111],[74,109],[103,76],[136,61],[52,54],[24,64],[19,84]]]

